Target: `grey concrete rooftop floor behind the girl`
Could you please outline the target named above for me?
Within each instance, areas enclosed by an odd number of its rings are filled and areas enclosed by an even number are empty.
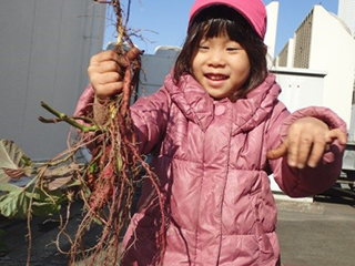
[[[314,197],[313,203],[276,201],[277,234],[282,264],[292,266],[355,265],[355,193],[332,188]],[[79,216],[78,216],[79,217]],[[64,255],[51,244],[58,234],[57,223],[32,222],[31,266],[68,265]],[[0,217],[6,247],[0,252],[0,265],[26,265],[26,222]],[[98,264],[100,265],[100,264]]]

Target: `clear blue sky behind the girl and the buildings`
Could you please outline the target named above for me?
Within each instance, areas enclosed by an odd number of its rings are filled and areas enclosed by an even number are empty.
[[[189,11],[194,0],[131,0],[129,27],[138,31],[141,38],[132,37],[134,43],[145,53],[154,53],[158,45],[181,47],[186,32]],[[272,0],[263,0],[265,4]],[[308,14],[314,4],[322,4],[327,11],[337,13],[337,0],[278,0],[278,25],[276,35],[276,53],[293,37],[294,31]],[[122,0],[126,9],[128,0]],[[115,40],[113,19],[105,27],[104,45]]]

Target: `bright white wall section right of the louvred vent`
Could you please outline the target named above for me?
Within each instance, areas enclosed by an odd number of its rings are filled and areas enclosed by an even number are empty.
[[[315,6],[310,68],[326,70],[323,104],[349,127],[355,72],[355,41],[339,19]]]

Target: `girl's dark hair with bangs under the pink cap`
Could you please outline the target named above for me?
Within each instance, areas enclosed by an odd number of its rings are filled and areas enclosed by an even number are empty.
[[[192,73],[192,61],[203,39],[227,37],[239,42],[246,51],[250,63],[250,78],[242,88],[240,96],[254,89],[267,74],[266,45],[253,30],[247,20],[227,6],[212,6],[200,11],[191,21],[184,45],[176,59],[174,80]]]

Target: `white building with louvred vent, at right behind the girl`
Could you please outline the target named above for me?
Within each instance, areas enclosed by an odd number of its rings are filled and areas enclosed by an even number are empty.
[[[315,6],[278,54],[276,65],[326,72],[324,88],[315,102],[321,100],[321,105],[331,108],[345,120],[353,141],[355,41],[337,16]]]

